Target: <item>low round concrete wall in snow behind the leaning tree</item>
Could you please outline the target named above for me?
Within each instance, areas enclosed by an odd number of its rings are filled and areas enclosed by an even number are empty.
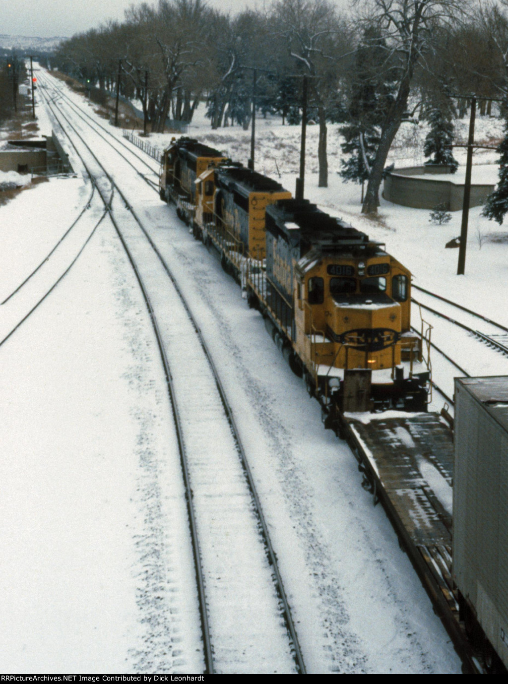
[[[464,202],[464,183],[454,183],[438,179],[414,178],[423,174],[449,174],[449,166],[408,166],[390,172],[383,183],[383,197],[403,207],[415,209],[436,209],[444,204],[446,211],[459,211]],[[451,174],[451,179],[453,175]],[[495,185],[471,184],[470,207],[483,205],[485,199],[494,191]]]

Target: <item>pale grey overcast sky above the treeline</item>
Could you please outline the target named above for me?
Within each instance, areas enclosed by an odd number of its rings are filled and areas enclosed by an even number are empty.
[[[149,5],[157,0],[146,0]],[[263,0],[208,0],[214,8],[243,10],[263,5]],[[336,5],[349,0],[335,0]],[[107,19],[122,20],[132,0],[0,0],[0,34],[11,36],[72,36],[87,31]]]

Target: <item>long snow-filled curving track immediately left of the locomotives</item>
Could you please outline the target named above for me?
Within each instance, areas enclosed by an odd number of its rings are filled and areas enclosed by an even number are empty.
[[[72,137],[81,141],[80,148],[88,149],[101,176],[116,191],[108,213],[139,282],[157,338],[187,492],[204,671],[304,673],[259,497],[196,321],[120,187],[69,118],[51,103],[48,106],[66,135],[70,137],[68,130],[72,130]]]

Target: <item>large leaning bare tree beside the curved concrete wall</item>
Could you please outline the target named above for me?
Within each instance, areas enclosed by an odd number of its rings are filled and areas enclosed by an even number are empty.
[[[407,100],[416,66],[433,49],[433,31],[466,11],[468,0],[353,0],[362,10],[358,21],[376,25],[386,40],[386,60],[380,69],[397,73],[397,88],[382,123],[381,136],[371,166],[363,213],[375,213],[379,186],[393,139],[407,111]]]

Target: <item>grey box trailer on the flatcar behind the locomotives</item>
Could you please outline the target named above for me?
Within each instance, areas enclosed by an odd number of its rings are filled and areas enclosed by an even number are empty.
[[[508,668],[508,378],[455,380],[453,579],[487,672]]]

